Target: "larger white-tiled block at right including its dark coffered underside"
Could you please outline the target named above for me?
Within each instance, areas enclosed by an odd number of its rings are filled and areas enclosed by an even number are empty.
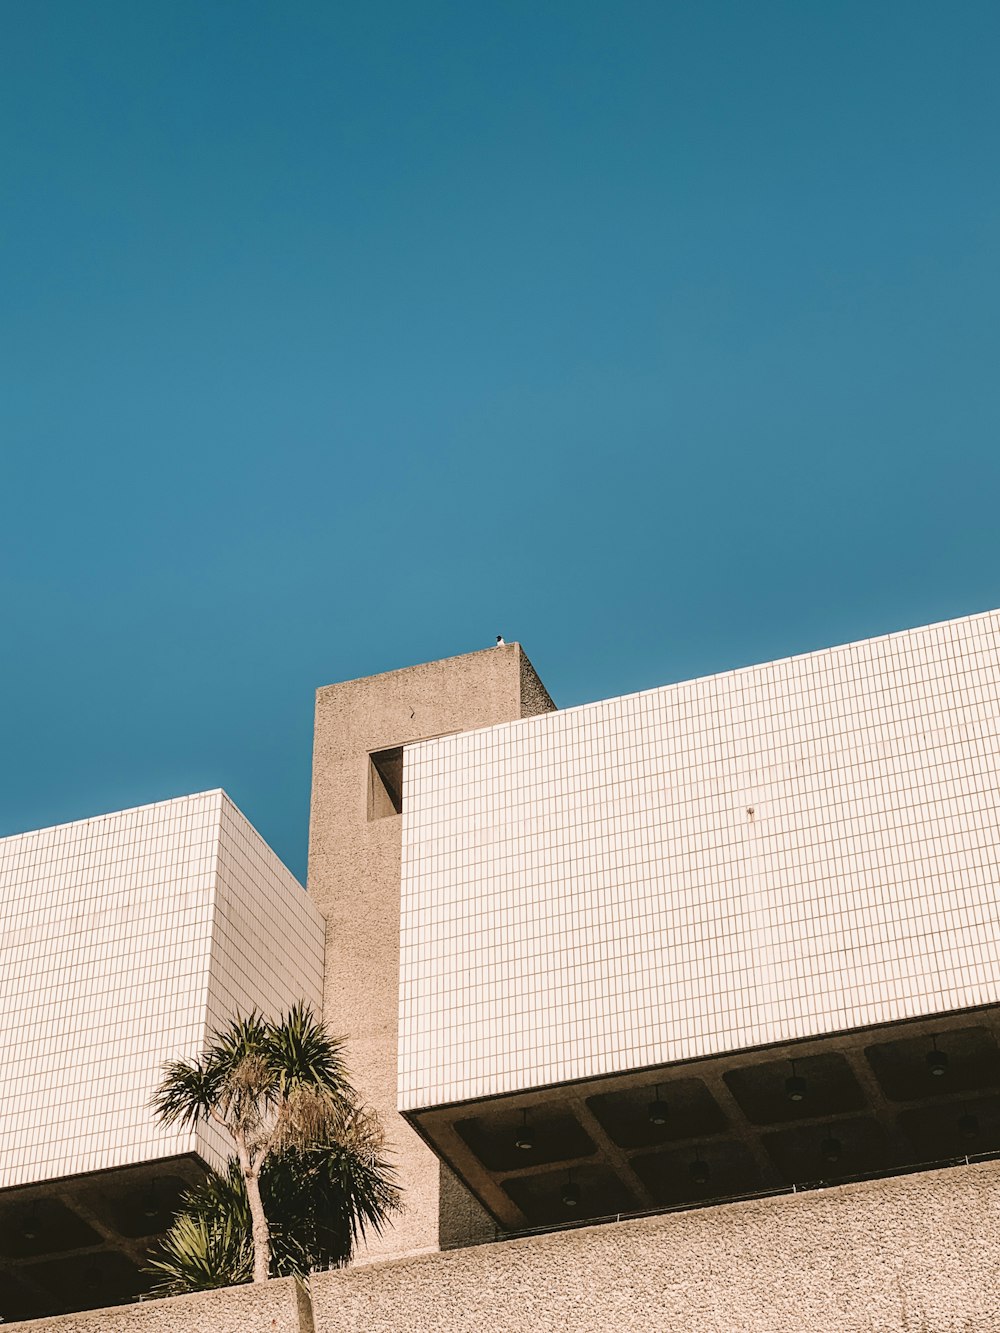
[[[1000,1148],[999,632],[407,746],[399,1108],[500,1229]]]

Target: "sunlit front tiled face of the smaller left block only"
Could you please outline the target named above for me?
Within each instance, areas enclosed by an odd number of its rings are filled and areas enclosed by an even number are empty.
[[[0,1186],[193,1150],[148,1109],[204,1025],[219,801],[0,841]]]

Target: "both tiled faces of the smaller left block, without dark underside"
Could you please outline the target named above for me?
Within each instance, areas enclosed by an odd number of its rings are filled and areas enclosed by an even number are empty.
[[[0,840],[0,1188],[215,1157],[156,1126],[163,1062],[231,1008],[319,1004],[321,949],[320,914],[223,792]]]

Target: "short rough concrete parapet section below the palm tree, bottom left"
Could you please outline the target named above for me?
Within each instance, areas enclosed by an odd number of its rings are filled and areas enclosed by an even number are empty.
[[[168,1301],[4,1324],[4,1333],[313,1333],[309,1298],[284,1277],[267,1286],[228,1286]]]

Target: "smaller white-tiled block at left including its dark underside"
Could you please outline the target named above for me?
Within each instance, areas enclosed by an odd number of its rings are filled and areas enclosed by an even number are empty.
[[[223,792],[0,840],[0,1316],[129,1300],[229,1149],[161,1129],[164,1061],[323,994],[323,920]]]

